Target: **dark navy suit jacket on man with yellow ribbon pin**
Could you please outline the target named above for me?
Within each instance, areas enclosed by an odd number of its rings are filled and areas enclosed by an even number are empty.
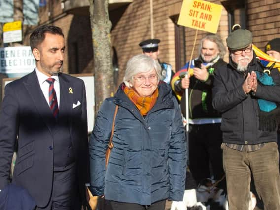
[[[59,115],[68,118],[80,193],[85,198],[85,183],[89,181],[85,86],[81,79],[63,73],[59,74],[59,82]],[[73,108],[78,101],[80,105]],[[53,182],[56,126],[35,70],[6,85],[0,113],[0,189],[9,183],[17,140],[12,182],[27,189],[39,207],[47,205]]]

